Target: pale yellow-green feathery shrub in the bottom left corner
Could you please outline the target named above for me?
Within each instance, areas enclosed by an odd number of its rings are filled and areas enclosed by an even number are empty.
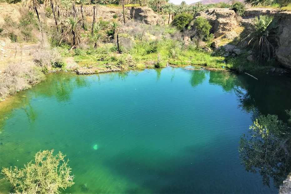
[[[39,151],[24,168],[3,168],[2,174],[17,194],[58,194],[60,188],[74,184],[65,156],[62,152],[53,156],[53,150]]]

